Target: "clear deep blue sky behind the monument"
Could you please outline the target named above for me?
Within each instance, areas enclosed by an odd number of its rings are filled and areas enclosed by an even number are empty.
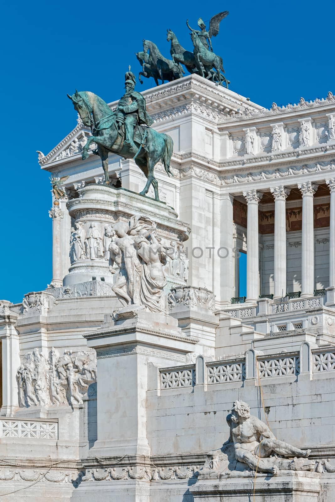
[[[320,5],[320,7],[318,7]],[[170,7],[171,6],[171,7]],[[177,7],[175,7],[177,6]],[[124,12],[125,10],[125,12]],[[196,26],[229,10],[213,40],[231,89],[270,107],[335,94],[335,3],[322,2],[7,2],[2,8],[2,170],[0,298],[13,302],[51,281],[47,154],[76,124],[66,97],[90,90],[105,101],[121,96],[124,74],[140,65],[142,39],[165,56],[173,30],[192,49],[185,21]],[[176,12],[178,11],[178,12]],[[154,85],[144,79],[147,89]]]

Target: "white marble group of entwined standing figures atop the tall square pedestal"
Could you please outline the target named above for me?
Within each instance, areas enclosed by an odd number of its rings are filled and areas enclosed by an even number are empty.
[[[120,221],[113,227],[116,239],[109,245],[110,271],[113,273],[116,264],[119,274],[112,289],[124,307],[164,311],[165,247],[158,242],[155,229],[156,223],[143,217],[132,217],[128,224]]]

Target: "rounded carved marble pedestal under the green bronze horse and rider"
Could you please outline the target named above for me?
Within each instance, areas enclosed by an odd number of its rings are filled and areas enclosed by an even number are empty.
[[[106,228],[107,233],[110,232],[118,221],[128,224],[130,218],[143,215],[155,221],[157,237],[165,245],[171,246],[171,252],[187,240],[190,233],[188,225],[178,220],[172,207],[124,188],[87,185],[79,189],[79,198],[67,202],[67,208],[74,226],[79,227],[77,239],[80,235],[83,251],[79,258],[73,257],[75,260],[63,279],[63,286],[66,287],[90,281],[114,282],[115,275],[109,271],[109,254],[105,249],[109,242],[104,234]],[[91,234],[94,239],[90,238]],[[180,278],[169,277],[167,270],[166,276],[166,291],[176,284],[185,284]]]

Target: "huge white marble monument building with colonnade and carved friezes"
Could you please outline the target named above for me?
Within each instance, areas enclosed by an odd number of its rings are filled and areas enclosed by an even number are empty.
[[[241,399],[278,439],[311,450],[318,470],[282,480],[290,500],[331,502],[335,97],[265,109],[196,75],[143,94],[153,127],[174,141],[173,178],[156,168],[166,204],[136,195],[145,178],[117,155],[115,188],[103,187],[100,159],[81,159],[81,120],[39,154],[67,195],[50,210],[51,286],[1,302],[0,495],[221,500],[201,491],[197,472],[228,439],[226,415]],[[108,233],[136,215],[174,249],[168,315],[115,320]],[[252,500],[254,483],[244,485],[234,500]],[[264,475],[255,486],[259,502],[264,490],[288,500]],[[236,487],[222,489],[230,500]]]

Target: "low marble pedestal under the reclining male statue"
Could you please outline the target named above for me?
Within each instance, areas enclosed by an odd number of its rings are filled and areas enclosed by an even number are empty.
[[[241,473],[242,475],[244,473]],[[248,477],[199,476],[190,486],[194,502],[320,502],[320,474],[306,471],[281,471],[278,476],[257,474]]]

